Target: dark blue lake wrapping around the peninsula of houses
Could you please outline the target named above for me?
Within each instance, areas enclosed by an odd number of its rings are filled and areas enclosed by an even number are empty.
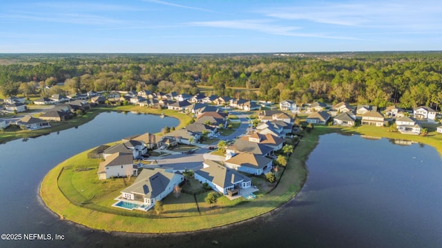
[[[430,146],[385,138],[320,136],[296,198],[265,216],[208,231],[108,234],[59,220],[39,202],[39,183],[64,159],[177,124],[173,118],[103,113],[77,129],[0,145],[0,232],[66,237],[0,240],[0,246],[216,247],[216,240],[218,247],[442,247],[441,157]]]

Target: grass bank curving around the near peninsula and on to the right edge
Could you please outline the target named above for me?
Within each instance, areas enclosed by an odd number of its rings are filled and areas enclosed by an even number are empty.
[[[442,155],[442,134],[430,132],[427,136],[409,136],[389,132],[387,127],[327,127],[314,126],[305,133],[291,154],[285,169],[276,172],[280,178],[277,187],[269,185],[264,178],[253,177],[253,185],[260,189],[255,200],[218,198],[215,207],[204,202],[208,192],[193,194],[170,194],[164,198],[163,211],[128,211],[111,207],[120,191],[130,185],[134,178],[97,179],[98,160],[86,158],[88,151],[77,154],[53,168],[41,183],[40,195],[44,203],[62,219],[70,220],[93,229],[124,231],[132,233],[175,233],[210,229],[238,223],[266,214],[287,203],[302,189],[307,180],[305,161],[318,144],[320,135],[338,132],[394,138],[425,143]],[[76,170],[76,168],[83,168]],[[90,169],[84,169],[90,168]]]

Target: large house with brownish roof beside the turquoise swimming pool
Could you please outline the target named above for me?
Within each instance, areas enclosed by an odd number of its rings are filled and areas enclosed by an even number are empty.
[[[162,200],[173,192],[175,187],[184,181],[184,176],[173,172],[171,169],[143,169],[135,182],[122,190],[119,201],[113,207],[119,207],[119,203],[136,203],[134,209],[148,211],[155,203]],[[127,209],[127,208],[125,208]]]

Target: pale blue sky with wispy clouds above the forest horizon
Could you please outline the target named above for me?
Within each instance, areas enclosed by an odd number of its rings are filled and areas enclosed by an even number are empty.
[[[440,0],[0,1],[0,53],[442,50]]]

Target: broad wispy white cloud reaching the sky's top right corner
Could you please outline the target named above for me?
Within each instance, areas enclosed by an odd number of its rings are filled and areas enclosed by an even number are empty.
[[[421,1],[354,1],[352,3],[322,2],[309,6],[267,8],[258,12],[267,17],[302,20],[329,25],[361,28],[403,28],[429,30],[441,28],[442,6],[439,2]]]

